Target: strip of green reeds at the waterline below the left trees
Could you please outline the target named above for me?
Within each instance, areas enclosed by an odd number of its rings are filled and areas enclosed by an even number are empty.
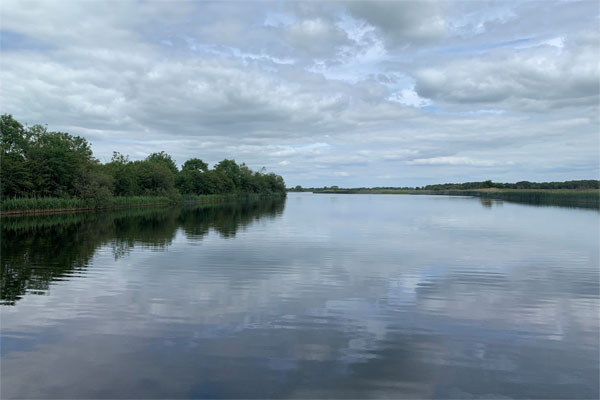
[[[175,204],[222,203],[239,199],[260,199],[262,197],[284,197],[281,193],[227,193],[207,195],[185,195],[178,198],[166,196],[112,197],[102,203],[77,198],[17,198],[0,202],[0,217],[23,215],[65,214],[99,210],[118,210],[168,206]]]

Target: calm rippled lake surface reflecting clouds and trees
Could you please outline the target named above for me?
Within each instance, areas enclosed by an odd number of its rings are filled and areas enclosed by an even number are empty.
[[[600,213],[444,196],[2,220],[2,398],[598,398]]]

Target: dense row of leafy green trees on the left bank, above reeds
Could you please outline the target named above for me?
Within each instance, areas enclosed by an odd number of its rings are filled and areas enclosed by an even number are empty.
[[[223,160],[212,169],[198,158],[181,169],[163,151],[131,161],[113,153],[102,164],[82,137],[24,127],[11,115],[0,117],[2,199],[80,198],[102,202],[113,196],[167,196],[226,193],[285,193],[283,178]]]

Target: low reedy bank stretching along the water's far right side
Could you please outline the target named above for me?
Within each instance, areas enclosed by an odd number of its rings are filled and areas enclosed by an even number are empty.
[[[336,194],[412,194],[474,196],[535,205],[555,205],[600,209],[600,191],[596,189],[472,189],[472,190],[410,190],[410,189],[327,189],[313,193]]]

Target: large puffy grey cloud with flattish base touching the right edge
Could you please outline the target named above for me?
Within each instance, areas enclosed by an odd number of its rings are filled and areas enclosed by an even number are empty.
[[[565,41],[564,48],[540,45],[457,58],[415,72],[419,95],[448,103],[502,103],[518,108],[597,104],[598,40],[588,32]],[[567,100],[566,102],[563,102]]]

